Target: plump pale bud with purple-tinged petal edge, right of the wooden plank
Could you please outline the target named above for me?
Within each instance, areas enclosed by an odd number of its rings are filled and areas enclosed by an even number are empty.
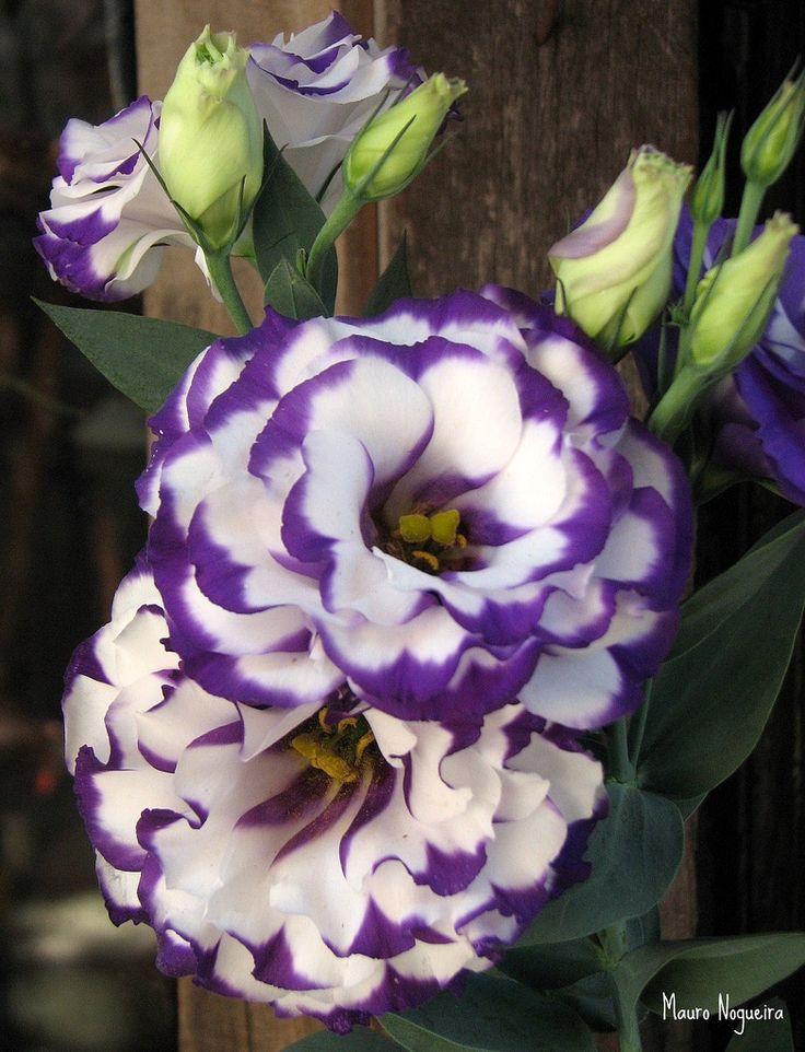
[[[645,332],[668,299],[674,232],[689,182],[689,165],[653,147],[632,151],[586,222],[548,253],[560,314],[610,347]]]

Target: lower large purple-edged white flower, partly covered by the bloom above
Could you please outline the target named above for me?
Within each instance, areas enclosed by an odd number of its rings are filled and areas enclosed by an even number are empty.
[[[65,717],[110,916],[152,925],[167,973],[346,1031],[488,968],[585,876],[602,769],[564,728],[517,702],[399,720],[346,683],[233,703],[178,667],[160,601],[141,564]]]

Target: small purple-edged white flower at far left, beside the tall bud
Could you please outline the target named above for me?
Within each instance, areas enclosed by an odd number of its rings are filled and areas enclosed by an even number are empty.
[[[165,245],[195,247],[137,145],[156,161],[160,106],[142,95],[102,125],[73,118],[65,128],[34,245],[71,292],[125,300],[156,278]]]

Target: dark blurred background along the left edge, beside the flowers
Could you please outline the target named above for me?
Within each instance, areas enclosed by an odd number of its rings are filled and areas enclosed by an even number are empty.
[[[30,296],[78,303],[34,253],[57,140],[136,97],[130,0],[0,4],[0,1048],[173,1050],[151,933],[109,923],[61,758],[72,648],[145,533],[142,413]],[[85,305],[85,304],[84,304]],[[136,309],[136,305],[135,305]]]

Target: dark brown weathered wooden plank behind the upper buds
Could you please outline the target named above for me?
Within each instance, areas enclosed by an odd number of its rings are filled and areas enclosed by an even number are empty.
[[[417,291],[488,281],[537,293],[546,249],[654,142],[697,160],[693,0],[380,0],[377,35],[470,92],[456,142],[382,208],[408,230]],[[451,16],[452,15],[452,16]]]

